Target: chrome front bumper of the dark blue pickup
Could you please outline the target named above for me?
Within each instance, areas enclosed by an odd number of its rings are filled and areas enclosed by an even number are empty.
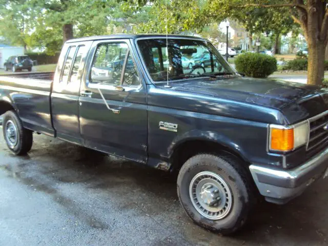
[[[250,171],[265,200],[282,204],[300,195],[313,181],[327,174],[327,168],[328,148],[291,170],[277,170],[253,164]]]

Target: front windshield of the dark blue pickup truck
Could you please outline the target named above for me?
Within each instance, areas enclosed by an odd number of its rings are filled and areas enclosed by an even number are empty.
[[[194,39],[141,39],[137,44],[155,82],[191,77],[236,75],[208,42]]]

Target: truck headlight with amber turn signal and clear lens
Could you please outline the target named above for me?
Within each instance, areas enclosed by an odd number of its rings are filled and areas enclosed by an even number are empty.
[[[270,125],[269,149],[273,151],[291,151],[308,142],[308,121],[294,126]]]

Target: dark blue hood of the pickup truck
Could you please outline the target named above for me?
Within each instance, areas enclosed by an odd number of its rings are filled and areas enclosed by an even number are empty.
[[[279,110],[293,124],[327,110],[328,93],[318,86],[274,79],[233,77],[171,81],[173,90],[204,94]]]

